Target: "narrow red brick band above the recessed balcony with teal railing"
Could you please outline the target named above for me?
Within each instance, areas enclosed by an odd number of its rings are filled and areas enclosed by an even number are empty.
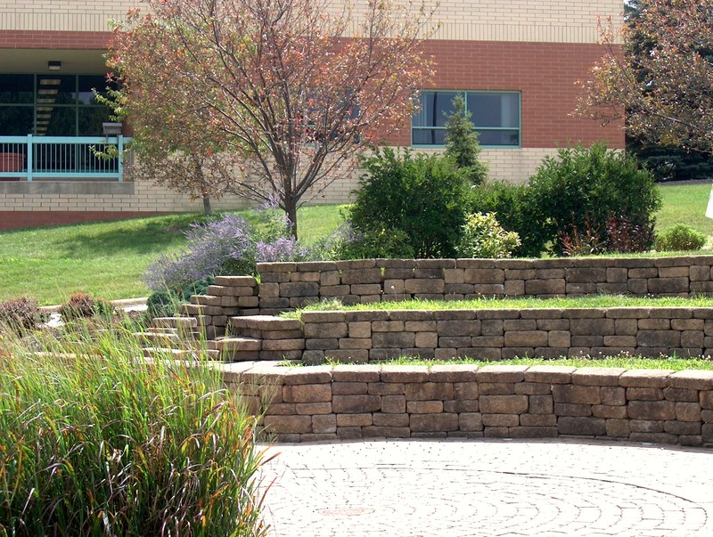
[[[110,37],[111,32],[0,30],[0,48],[102,50]]]

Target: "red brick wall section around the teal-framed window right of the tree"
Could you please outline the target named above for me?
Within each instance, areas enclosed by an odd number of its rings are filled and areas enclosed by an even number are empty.
[[[522,93],[521,143],[524,148],[553,148],[572,142],[606,140],[624,147],[621,125],[602,127],[572,117],[580,89],[602,47],[586,44],[429,41],[437,62],[433,89],[502,90]],[[410,120],[409,120],[410,121]],[[410,124],[390,140],[410,145]]]

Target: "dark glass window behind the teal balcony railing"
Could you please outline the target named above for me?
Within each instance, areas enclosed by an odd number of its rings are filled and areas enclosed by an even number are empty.
[[[99,136],[111,110],[102,75],[0,75],[0,136]]]

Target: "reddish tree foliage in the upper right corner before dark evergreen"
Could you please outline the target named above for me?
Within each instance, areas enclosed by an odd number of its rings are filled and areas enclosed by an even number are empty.
[[[664,145],[713,148],[713,0],[639,0],[586,82],[579,110],[604,122],[627,114],[630,134]],[[614,108],[611,108],[613,105]]]

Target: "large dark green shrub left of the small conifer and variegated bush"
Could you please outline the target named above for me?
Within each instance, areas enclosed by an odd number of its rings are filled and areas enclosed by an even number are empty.
[[[451,159],[386,148],[361,165],[366,173],[349,211],[356,232],[375,246],[376,238],[400,234],[416,257],[455,255],[470,184]]]

